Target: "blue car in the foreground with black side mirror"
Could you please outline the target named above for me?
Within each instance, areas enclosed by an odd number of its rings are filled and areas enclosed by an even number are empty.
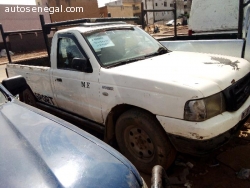
[[[26,87],[23,77],[0,84],[0,187],[146,187],[119,152],[13,97]]]

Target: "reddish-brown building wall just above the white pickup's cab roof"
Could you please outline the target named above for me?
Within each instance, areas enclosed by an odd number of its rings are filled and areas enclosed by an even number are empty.
[[[81,18],[100,17],[97,0],[48,0],[49,7],[83,7],[83,12],[55,12],[51,14],[52,22]]]

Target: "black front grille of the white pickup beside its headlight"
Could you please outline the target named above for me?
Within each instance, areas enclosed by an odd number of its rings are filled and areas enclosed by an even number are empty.
[[[250,94],[250,73],[226,88],[222,93],[225,96],[226,110],[230,112],[238,110]]]

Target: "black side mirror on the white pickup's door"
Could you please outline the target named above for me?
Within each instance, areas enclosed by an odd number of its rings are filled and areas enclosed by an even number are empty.
[[[88,59],[85,58],[74,58],[71,67],[78,71],[86,73],[92,73],[93,69]]]

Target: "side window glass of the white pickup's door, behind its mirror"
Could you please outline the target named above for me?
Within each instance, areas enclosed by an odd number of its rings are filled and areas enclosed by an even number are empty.
[[[58,41],[57,68],[76,70],[72,61],[84,58],[76,43],[71,38],[60,38]]]

